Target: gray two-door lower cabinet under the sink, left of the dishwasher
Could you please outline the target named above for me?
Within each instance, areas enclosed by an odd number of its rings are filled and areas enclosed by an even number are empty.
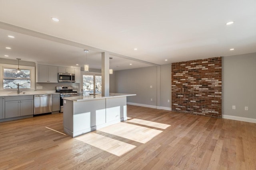
[[[34,114],[34,96],[5,97],[5,118]]]

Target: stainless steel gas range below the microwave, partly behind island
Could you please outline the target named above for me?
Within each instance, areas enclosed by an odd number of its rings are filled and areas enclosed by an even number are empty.
[[[78,96],[76,91],[73,91],[72,86],[56,86],[56,92],[60,93],[60,112],[63,112],[64,97]]]

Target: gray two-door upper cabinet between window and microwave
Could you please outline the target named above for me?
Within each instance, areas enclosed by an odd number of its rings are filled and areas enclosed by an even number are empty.
[[[38,83],[58,83],[58,67],[37,65]]]

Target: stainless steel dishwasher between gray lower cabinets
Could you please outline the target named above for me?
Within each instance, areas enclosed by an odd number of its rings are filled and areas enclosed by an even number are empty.
[[[34,95],[34,115],[52,112],[52,95]]]

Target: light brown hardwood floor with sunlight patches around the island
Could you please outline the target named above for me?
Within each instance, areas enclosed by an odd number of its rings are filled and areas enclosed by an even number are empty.
[[[0,123],[0,169],[256,170],[256,123],[128,105],[128,121],[71,138],[62,114]]]

